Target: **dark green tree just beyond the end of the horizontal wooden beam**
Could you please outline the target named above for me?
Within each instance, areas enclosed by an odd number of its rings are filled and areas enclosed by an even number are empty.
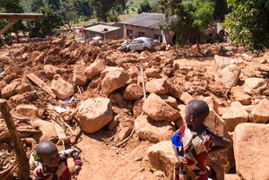
[[[40,7],[38,13],[43,13],[43,20],[28,21],[28,30],[30,30],[30,37],[37,36],[51,36],[53,30],[64,25],[62,18],[58,13],[51,9],[48,5]]]

